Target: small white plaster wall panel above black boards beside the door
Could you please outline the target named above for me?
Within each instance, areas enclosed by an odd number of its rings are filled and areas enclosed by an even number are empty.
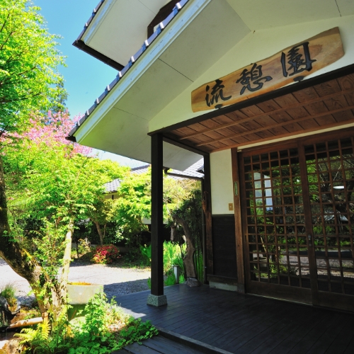
[[[212,185],[212,215],[234,214],[231,149],[210,154],[210,180]]]

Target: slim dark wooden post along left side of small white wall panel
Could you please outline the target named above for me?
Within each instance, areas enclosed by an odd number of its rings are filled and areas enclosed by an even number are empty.
[[[210,183],[210,156],[204,155],[205,239],[207,244],[207,274],[214,274],[212,252],[212,185]]]

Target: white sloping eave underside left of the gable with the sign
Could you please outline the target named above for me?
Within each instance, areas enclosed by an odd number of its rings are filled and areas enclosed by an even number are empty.
[[[190,14],[195,16],[194,8],[190,9]],[[218,26],[219,18],[226,20],[224,28]],[[176,16],[176,21],[180,21],[178,25],[185,25],[181,16]],[[215,28],[212,33],[198,31],[208,25]],[[178,31],[173,41],[164,42],[168,30],[161,33],[161,40],[159,37],[152,43],[74,132],[77,142],[150,162],[149,121],[249,33],[224,0],[213,0],[200,8],[188,27]],[[185,50],[186,46],[190,49]],[[161,55],[156,58],[154,52],[158,50]],[[184,170],[198,159],[197,154],[165,144],[164,166]]]

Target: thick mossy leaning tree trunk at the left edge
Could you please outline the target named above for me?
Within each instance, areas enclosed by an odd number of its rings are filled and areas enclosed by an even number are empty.
[[[45,312],[45,305],[40,300],[40,275],[42,267],[25,251],[13,234],[8,224],[7,202],[5,193],[5,177],[2,157],[0,155],[0,256],[21,277],[28,280],[38,299],[41,312]]]

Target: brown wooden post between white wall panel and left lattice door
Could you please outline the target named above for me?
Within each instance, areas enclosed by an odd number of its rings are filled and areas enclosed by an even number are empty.
[[[236,238],[236,264],[237,264],[237,291],[244,293],[244,246],[241,225],[241,202],[239,185],[239,159],[237,149],[231,149],[232,181],[234,181],[234,215],[235,215],[235,238]]]

